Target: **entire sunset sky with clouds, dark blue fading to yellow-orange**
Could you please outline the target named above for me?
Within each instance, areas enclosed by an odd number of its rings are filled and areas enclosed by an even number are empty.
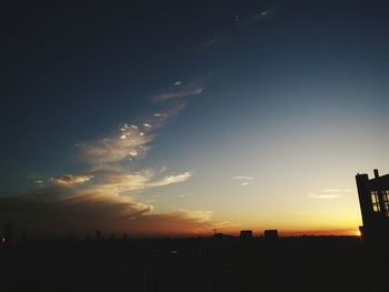
[[[385,1],[14,1],[0,223],[57,236],[356,234],[389,173]]]

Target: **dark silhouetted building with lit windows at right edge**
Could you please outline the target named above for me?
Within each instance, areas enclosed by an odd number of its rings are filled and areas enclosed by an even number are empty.
[[[360,226],[362,239],[373,245],[389,243],[389,174],[380,177],[375,169],[375,178],[356,175],[359,204],[363,226]]]

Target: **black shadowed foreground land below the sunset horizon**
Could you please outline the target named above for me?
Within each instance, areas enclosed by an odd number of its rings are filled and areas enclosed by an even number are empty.
[[[0,261],[1,291],[389,291],[352,236],[30,241]]]

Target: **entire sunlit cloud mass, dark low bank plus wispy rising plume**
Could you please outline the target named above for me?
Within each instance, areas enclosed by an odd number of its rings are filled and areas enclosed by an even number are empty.
[[[164,174],[166,170],[129,170],[128,162],[143,158],[154,130],[184,108],[184,103],[154,113],[142,123],[122,124],[106,138],[79,144],[89,170],[63,174],[39,183],[23,194],[0,195],[0,224],[12,222],[30,234],[104,232],[129,234],[182,234],[210,230],[208,212],[152,213],[153,207],[131,194],[150,188],[181,183],[192,173]]]

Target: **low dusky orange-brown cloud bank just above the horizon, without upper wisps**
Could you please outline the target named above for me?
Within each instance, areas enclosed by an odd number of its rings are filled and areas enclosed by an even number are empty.
[[[108,192],[67,193],[51,188],[0,197],[0,222],[30,235],[128,233],[138,236],[209,234],[210,212],[152,213],[152,205]]]

